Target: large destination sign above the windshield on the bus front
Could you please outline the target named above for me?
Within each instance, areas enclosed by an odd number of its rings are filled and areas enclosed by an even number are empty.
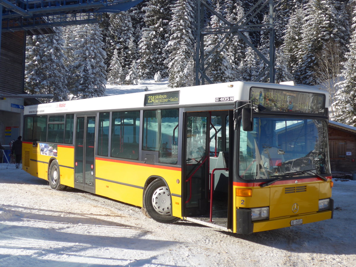
[[[324,113],[325,95],[300,91],[287,91],[252,87],[252,104],[262,105],[270,111]]]

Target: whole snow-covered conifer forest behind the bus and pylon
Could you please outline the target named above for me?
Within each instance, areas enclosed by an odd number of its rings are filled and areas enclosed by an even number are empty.
[[[105,84],[133,85],[168,78],[171,88],[194,85],[196,0],[145,0],[120,13],[104,13],[99,24],[57,27],[28,36],[25,90],[53,94],[47,101],[105,95]],[[255,1],[208,0],[230,23],[246,20]],[[256,20],[256,21],[253,21]],[[250,23],[268,22],[268,6]],[[204,27],[225,27],[204,14]],[[330,119],[356,126],[356,1],[275,0],[276,83],[327,90]],[[269,33],[245,31],[245,38],[269,58]],[[225,45],[221,33],[204,36],[206,74],[214,83],[265,81],[265,62],[238,35]],[[214,50],[219,46],[221,49]],[[219,51],[217,54],[216,51]],[[210,55],[209,55],[210,54]]]

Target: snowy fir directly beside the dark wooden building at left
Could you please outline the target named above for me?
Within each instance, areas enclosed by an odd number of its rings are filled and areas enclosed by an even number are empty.
[[[34,35],[27,38],[25,64],[25,91],[30,94],[53,94],[48,101],[68,100],[64,65],[64,40],[62,27],[54,28],[54,33]]]

